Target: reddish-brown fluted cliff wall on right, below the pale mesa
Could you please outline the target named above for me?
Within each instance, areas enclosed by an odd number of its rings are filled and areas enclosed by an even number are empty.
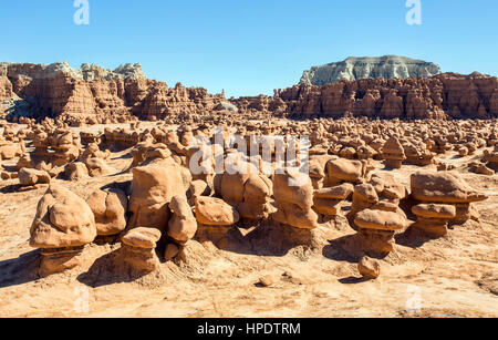
[[[277,90],[273,96],[232,102],[242,113],[266,110],[292,119],[489,119],[498,117],[498,79],[444,73],[429,79],[343,80],[322,86],[300,84]]]

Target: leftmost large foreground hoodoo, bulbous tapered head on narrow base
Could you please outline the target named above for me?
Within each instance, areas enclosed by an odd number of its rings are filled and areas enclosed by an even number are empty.
[[[40,275],[48,276],[79,265],[77,256],[96,237],[89,205],[72,192],[52,184],[37,207],[30,246],[42,249]]]

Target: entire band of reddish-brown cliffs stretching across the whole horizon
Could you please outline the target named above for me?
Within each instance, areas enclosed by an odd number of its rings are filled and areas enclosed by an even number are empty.
[[[230,103],[232,105],[230,105]],[[341,80],[276,90],[273,96],[230,100],[203,87],[168,87],[137,64],[114,71],[85,64],[0,64],[0,116],[59,117],[71,125],[126,122],[132,116],[229,116],[264,113],[291,119],[343,115],[385,119],[498,117],[498,79],[480,73],[432,78]],[[249,116],[249,115],[248,115]]]

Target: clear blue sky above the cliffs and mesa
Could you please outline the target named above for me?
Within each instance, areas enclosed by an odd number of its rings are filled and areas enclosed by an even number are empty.
[[[153,79],[227,96],[272,94],[303,70],[354,56],[400,54],[443,71],[498,75],[498,1],[90,0],[76,25],[73,0],[4,1],[0,60],[114,69],[139,62]]]

